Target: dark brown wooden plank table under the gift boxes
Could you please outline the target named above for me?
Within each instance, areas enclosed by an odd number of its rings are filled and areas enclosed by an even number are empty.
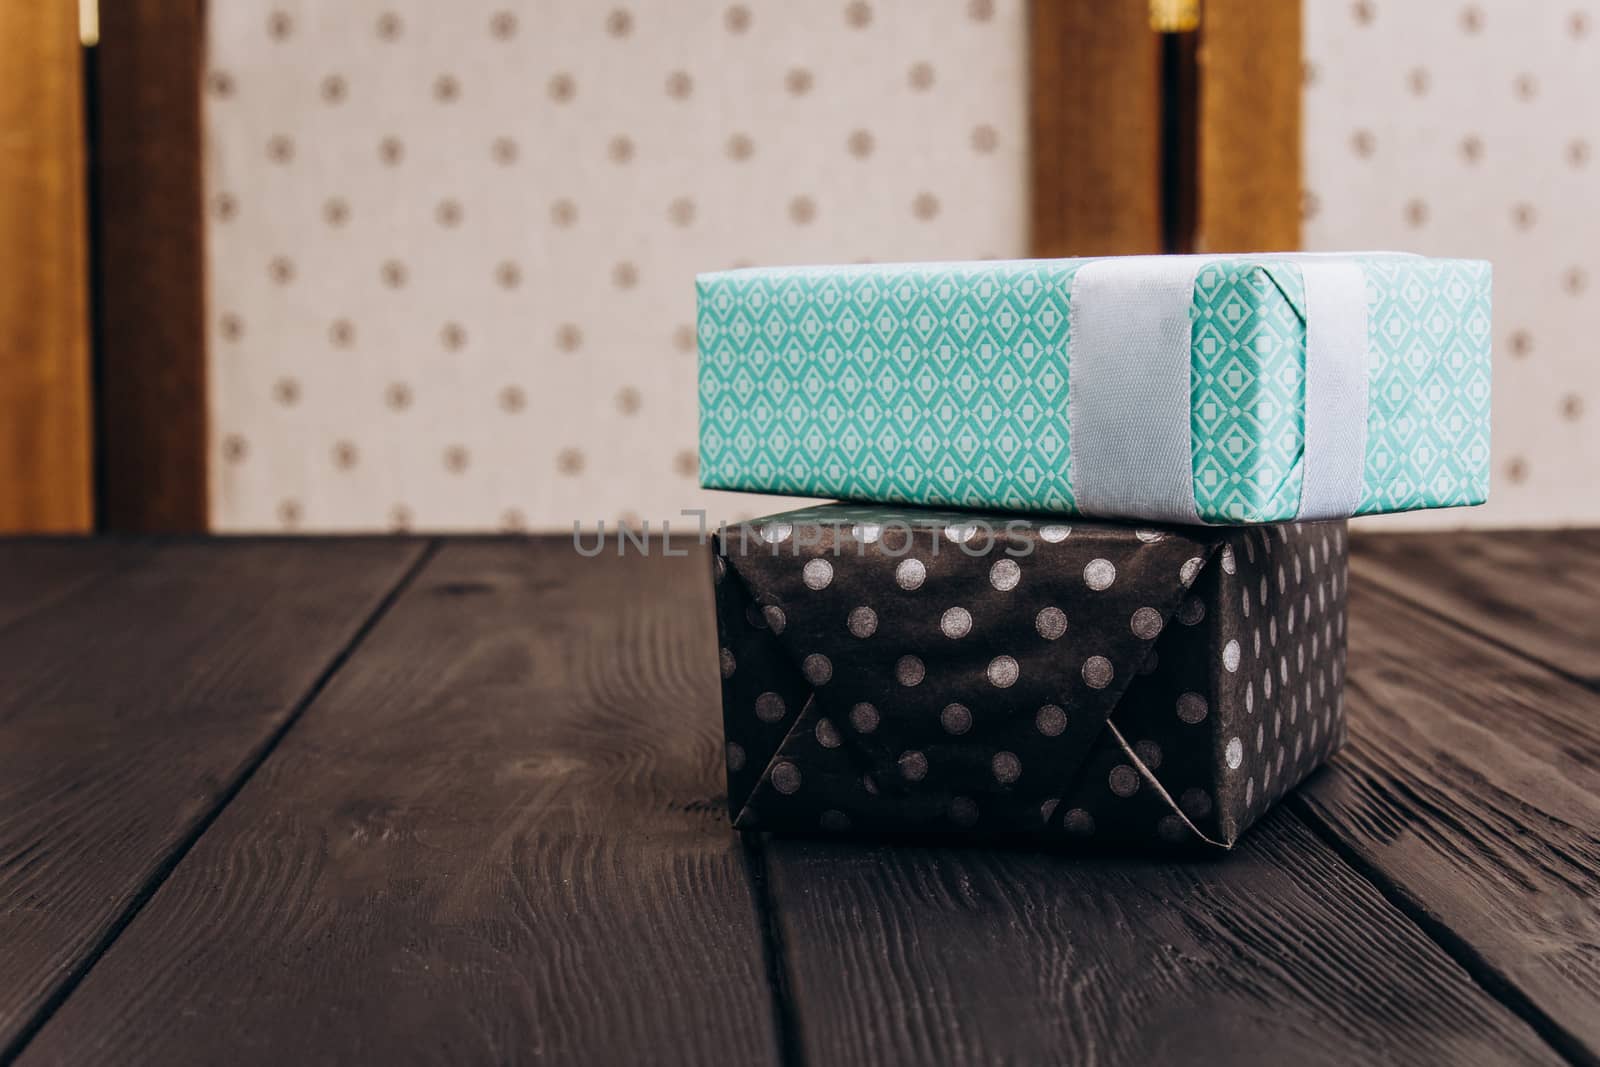
[[[0,542],[0,1062],[1600,1062],[1600,533],[1357,537],[1214,862],[741,840],[706,573]]]

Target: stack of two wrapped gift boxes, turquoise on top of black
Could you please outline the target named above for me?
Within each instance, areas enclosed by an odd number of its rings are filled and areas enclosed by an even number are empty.
[[[733,821],[1230,846],[1342,742],[1346,520],[1488,493],[1490,267],[699,278]]]

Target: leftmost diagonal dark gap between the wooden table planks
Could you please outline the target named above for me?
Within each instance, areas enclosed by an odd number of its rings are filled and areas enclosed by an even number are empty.
[[[216,822],[218,816],[222,814],[227,805],[234,801],[234,798],[240,793],[245,784],[254,776],[254,773],[261,768],[261,765],[267,761],[267,757],[272,755],[272,752],[278,747],[283,737],[288,736],[288,733],[306,713],[306,709],[309,709],[317,701],[317,696],[328,686],[333,677],[339,673],[344,664],[350,661],[350,656],[355,653],[357,648],[360,648],[362,641],[366,640],[366,635],[373,632],[378,622],[389,613],[394,603],[400,598],[400,593],[403,593],[406,587],[410,587],[413,581],[416,581],[416,576],[422,573],[429,560],[432,560],[434,555],[438,552],[438,547],[440,542],[437,537],[432,537],[422,544],[421,550],[416,553],[416,558],[411,560],[406,569],[400,574],[398,581],[395,581],[395,584],[389,589],[389,592],[382,595],[382,598],[371,609],[371,613],[368,613],[368,616],[355,629],[350,638],[333,654],[333,657],[315,677],[315,680],[312,680],[310,686],[294,702],[294,707],[290,710],[283,723],[272,734],[267,736],[266,744],[261,745],[254,758],[245,763],[245,766],[234,777],[234,781],[229,782],[227,787],[218,793],[216,801],[211,805],[211,808],[200,819],[195,821],[189,833],[178,841],[173,851],[150,873],[146,883],[139,886],[139,889],[133,894],[133,899],[128,902],[126,909],[123,909],[123,913],[118,915],[117,920],[106,929],[106,934],[94,945],[90,947],[85,957],[72,968],[66,981],[50,995],[50,998],[38,1006],[38,1009],[34,1013],[34,1017],[29,1019],[18,1030],[11,1043],[0,1048],[0,1067],[8,1067],[10,1064],[13,1064],[27,1049],[29,1043],[38,1035],[38,1032],[45,1027],[45,1024],[50,1022],[50,1019],[56,1014],[56,1011],[59,1011],[61,1006],[72,997],[72,993],[78,989],[78,985],[83,984],[83,979],[88,977],[90,971],[94,969],[94,965],[99,963],[101,958],[104,958],[104,955],[110,950],[110,947],[117,942],[117,939],[122,937],[123,931],[126,931],[128,926],[133,925],[133,920],[139,917],[139,912],[144,910],[144,905],[149,904],[152,897],[155,897],[162,885],[166,883],[171,873],[184,861],[184,856],[187,856],[189,851],[195,846],[195,843],[202,837],[205,837],[206,830],[211,829],[211,824]],[[82,582],[74,582],[72,589],[93,584],[99,577],[104,577],[104,573],[90,576]]]

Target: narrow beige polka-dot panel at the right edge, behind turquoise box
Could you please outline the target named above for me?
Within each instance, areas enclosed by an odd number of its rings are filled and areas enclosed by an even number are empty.
[[[1600,3],[1307,0],[1306,246],[1494,262],[1490,504],[1600,522]]]

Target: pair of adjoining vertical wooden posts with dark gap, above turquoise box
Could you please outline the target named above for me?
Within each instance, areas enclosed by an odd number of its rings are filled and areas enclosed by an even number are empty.
[[[1205,0],[1197,34],[1150,11],[1034,0],[1034,254],[1298,248],[1301,5]]]

